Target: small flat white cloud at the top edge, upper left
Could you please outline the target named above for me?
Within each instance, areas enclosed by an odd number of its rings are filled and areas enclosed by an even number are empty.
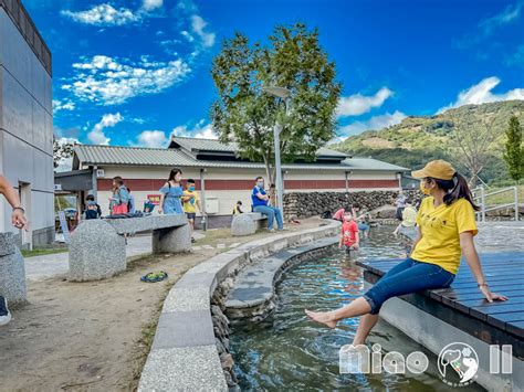
[[[78,23],[103,27],[124,25],[142,20],[140,14],[135,14],[128,8],[116,9],[112,4],[105,3],[94,6],[86,11],[74,12],[70,10],[63,10],[60,13]]]

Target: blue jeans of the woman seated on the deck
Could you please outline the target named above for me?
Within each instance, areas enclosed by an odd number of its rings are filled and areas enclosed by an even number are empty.
[[[449,287],[453,279],[454,274],[437,264],[407,258],[389,269],[375,286],[364,294],[364,298],[371,307],[370,314],[378,315],[382,304],[391,297]]]

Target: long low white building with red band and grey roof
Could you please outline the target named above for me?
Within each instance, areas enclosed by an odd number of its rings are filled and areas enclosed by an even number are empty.
[[[244,209],[251,205],[255,177],[265,177],[262,162],[239,159],[234,144],[218,140],[172,137],[168,148],[76,145],[73,171],[56,173],[55,182],[64,191],[97,195],[103,213],[108,213],[112,179],[120,176],[142,210],[147,199],[158,200],[158,190],[172,168],[180,168],[184,179],[196,180],[205,200],[210,222],[221,225],[231,220],[238,200]],[[400,174],[407,168],[370,158],[352,158],[346,153],[321,148],[316,161],[297,159],[283,165],[285,192],[398,190]],[[269,186],[266,183],[266,186]]]

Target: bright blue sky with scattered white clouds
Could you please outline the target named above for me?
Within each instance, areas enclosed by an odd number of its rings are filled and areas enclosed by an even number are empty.
[[[213,137],[211,61],[235,31],[318,28],[344,84],[338,135],[524,99],[524,0],[25,0],[53,53],[55,134],[164,147]]]

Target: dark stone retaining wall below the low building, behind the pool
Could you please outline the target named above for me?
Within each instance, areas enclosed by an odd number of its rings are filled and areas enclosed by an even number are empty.
[[[398,195],[398,191],[371,191],[371,192],[293,192],[284,194],[284,211],[286,216],[310,218],[322,214],[324,211],[334,213],[348,203],[358,203],[368,211],[382,205],[391,204]],[[419,205],[422,192],[419,190],[405,191],[405,194]]]

